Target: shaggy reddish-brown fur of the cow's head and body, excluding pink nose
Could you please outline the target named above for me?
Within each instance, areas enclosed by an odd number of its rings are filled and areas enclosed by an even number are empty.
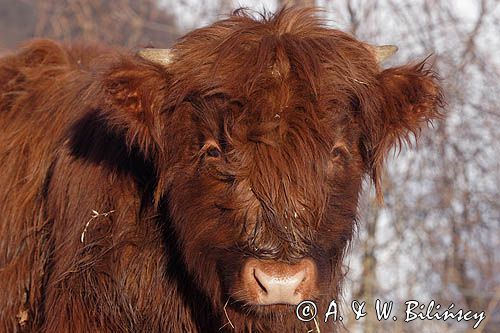
[[[363,176],[439,116],[424,63],[381,70],[313,10],[239,11],[173,55],[0,59],[0,331],[307,332],[248,304],[245,258],[312,258],[325,310]]]

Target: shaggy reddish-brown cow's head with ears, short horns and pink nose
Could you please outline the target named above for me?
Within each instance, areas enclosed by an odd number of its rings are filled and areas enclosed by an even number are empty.
[[[239,12],[102,76],[104,118],[152,161],[188,272],[235,326],[338,296],[364,176],[380,194],[387,152],[439,116],[433,72],[381,69],[393,51],[312,10]]]

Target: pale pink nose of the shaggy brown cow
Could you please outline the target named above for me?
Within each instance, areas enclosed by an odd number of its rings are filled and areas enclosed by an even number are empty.
[[[316,266],[309,259],[294,265],[249,259],[243,268],[243,285],[259,305],[296,305],[316,288]]]

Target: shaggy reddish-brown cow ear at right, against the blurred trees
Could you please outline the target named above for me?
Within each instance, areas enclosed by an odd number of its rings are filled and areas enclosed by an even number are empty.
[[[420,130],[442,117],[443,96],[436,73],[425,63],[394,67],[377,77],[378,91],[365,98],[363,150],[383,201],[381,170],[387,153],[411,143]]]

